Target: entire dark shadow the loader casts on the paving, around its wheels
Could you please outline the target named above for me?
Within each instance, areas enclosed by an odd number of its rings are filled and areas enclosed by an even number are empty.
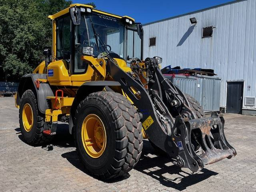
[[[20,133],[20,128],[16,128],[15,130]],[[18,137],[24,142],[21,134],[19,134]],[[68,124],[58,125],[57,134],[55,135],[54,140],[52,140],[51,144],[53,145],[53,148],[54,146],[60,148],[75,147],[72,135],[70,135],[68,132]],[[152,178],[158,180],[162,185],[175,188],[176,190],[184,190],[188,186],[197,184],[203,180],[206,180],[210,176],[218,174],[205,168],[202,169],[200,172],[193,174],[188,169],[186,169],[188,171],[184,171],[180,167],[172,164],[168,156],[156,154],[158,153],[154,150],[154,148],[152,148],[150,142],[148,140],[144,140],[141,159],[134,169],[148,176],[151,176]],[[90,175],[80,162],[78,154],[75,150],[71,152],[66,152],[61,156],[63,158],[66,158],[68,162],[70,162],[73,166],[75,166],[85,174]],[[113,183],[127,179],[128,177],[130,177],[129,174],[120,178],[103,181],[107,183]]]

